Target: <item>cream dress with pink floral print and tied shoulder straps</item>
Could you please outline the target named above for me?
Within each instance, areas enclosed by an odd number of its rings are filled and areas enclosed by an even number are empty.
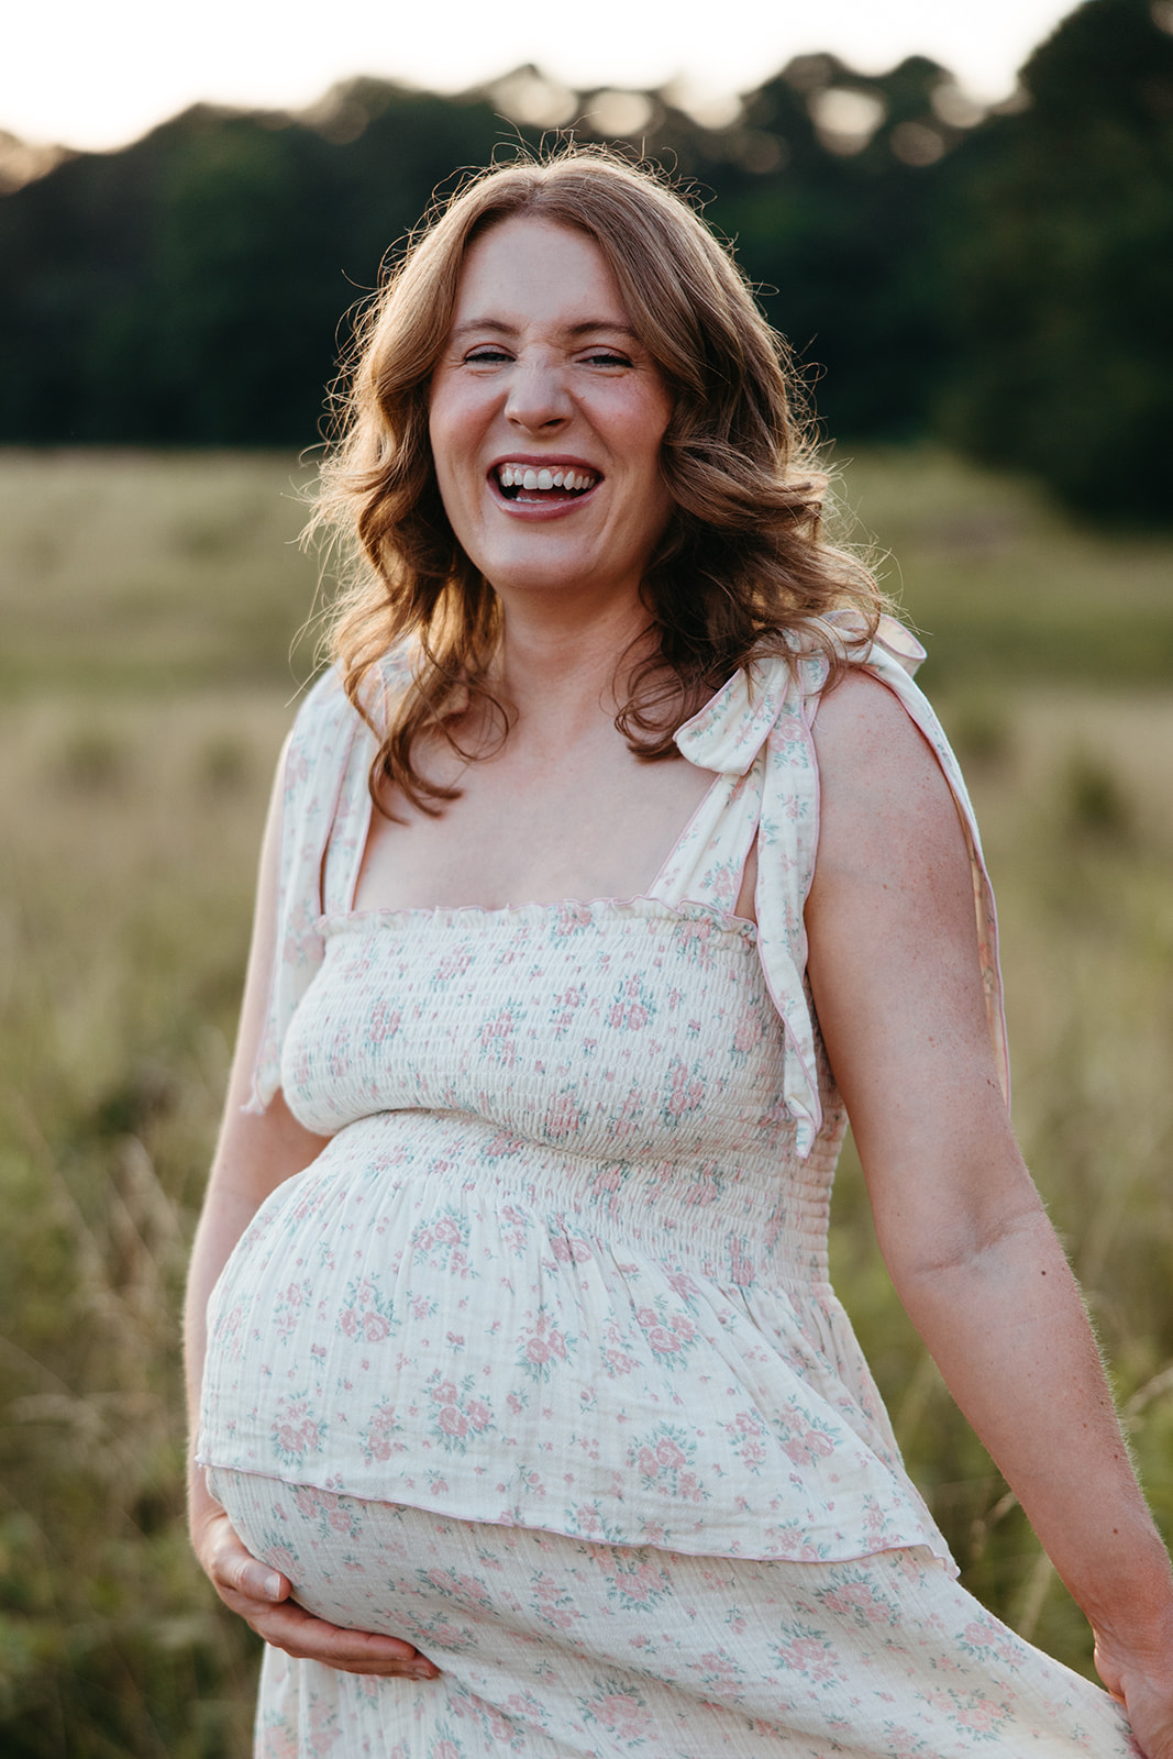
[[[992,897],[920,649],[885,621],[851,656],[953,790],[1004,1068]],[[355,913],[373,735],[334,677],[302,707],[253,1105],[280,1087],[331,1140],[215,1291],[200,1460],[306,1604],[445,1671],[271,1655],[273,1759],[1131,1750],[1104,1694],[953,1583],[827,1281],[846,1120],[804,934],[825,665],[739,674],[681,728],[714,781],[623,901]],[[383,688],[401,679],[389,660]],[[756,927],[732,915],[754,839]],[[681,1662],[689,1625],[709,1636]],[[900,1659],[930,1652],[936,1701]],[[879,1720],[848,1703],[863,1680]]]

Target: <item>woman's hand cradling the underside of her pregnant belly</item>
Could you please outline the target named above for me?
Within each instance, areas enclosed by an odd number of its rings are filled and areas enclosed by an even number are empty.
[[[315,1618],[292,1599],[288,1576],[251,1555],[229,1516],[211,1500],[192,1520],[192,1543],[202,1569],[225,1606],[274,1648],[297,1660],[320,1660],[343,1673],[397,1675],[434,1680],[440,1669],[399,1638],[348,1631]]]

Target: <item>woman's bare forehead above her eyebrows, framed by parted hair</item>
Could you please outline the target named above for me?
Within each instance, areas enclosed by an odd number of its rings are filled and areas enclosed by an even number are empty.
[[[630,322],[594,239],[529,215],[499,220],[464,253],[454,324],[492,318],[517,327]]]

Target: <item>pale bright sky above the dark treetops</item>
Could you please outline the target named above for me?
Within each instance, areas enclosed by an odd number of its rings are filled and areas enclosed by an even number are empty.
[[[301,109],[376,74],[461,91],[522,63],[577,90],[684,79],[747,90],[793,55],[860,72],[930,55],[978,99],[1073,0],[25,0],[7,11],[0,128],[26,141],[121,146],[200,99]]]

